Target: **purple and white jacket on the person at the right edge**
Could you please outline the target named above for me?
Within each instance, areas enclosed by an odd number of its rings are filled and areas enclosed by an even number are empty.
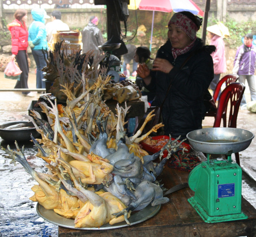
[[[251,46],[248,48],[244,44],[236,51],[234,60],[233,74],[253,75],[255,70],[256,48]]]

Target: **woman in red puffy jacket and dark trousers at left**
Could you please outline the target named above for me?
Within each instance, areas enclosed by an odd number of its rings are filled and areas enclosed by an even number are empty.
[[[28,89],[29,63],[27,58],[27,48],[29,46],[29,31],[26,27],[27,11],[18,9],[14,14],[15,20],[7,25],[12,35],[12,60],[17,61],[22,73],[20,80],[17,80],[15,89]],[[23,91],[23,95],[33,97],[34,94],[29,91]]]

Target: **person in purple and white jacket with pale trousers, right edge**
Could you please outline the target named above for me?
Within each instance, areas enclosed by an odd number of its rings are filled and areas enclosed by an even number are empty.
[[[253,46],[253,34],[246,34],[244,36],[244,44],[239,46],[236,51],[234,60],[233,74],[239,75],[239,82],[245,84],[247,80],[251,100],[256,100],[256,88],[254,80],[254,71],[256,63],[256,48]],[[246,104],[245,96],[243,94],[240,106]]]

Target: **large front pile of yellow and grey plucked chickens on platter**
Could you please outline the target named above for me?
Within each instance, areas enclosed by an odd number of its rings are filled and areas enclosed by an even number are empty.
[[[38,182],[32,187],[35,194],[30,200],[73,218],[75,228],[100,227],[124,220],[129,224],[131,211],[168,202],[157,176],[169,156],[157,164],[153,161],[166,148],[170,154],[180,150],[183,142],[170,139],[161,151],[148,155],[138,143],[163,124],[142,135],[145,124],[154,116],[148,114],[137,133],[127,137],[124,127],[129,107],[117,104],[114,114],[102,101],[109,80],[110,77],[99,74],[90,85],[82,74],[77,86],[74,82],[61,85],[67,97],[66,106],[56,100],[39,102],[47,120],[37,111],[25,115],[41,134],[40,139],[32,140],[38,148],[36,156],[46,162],[47,173],[29,166],[24,147],[20,148],[17,142],[17,150],[2,147],[9,154],[6,158],[12,159],[12,163],[19,162]]]

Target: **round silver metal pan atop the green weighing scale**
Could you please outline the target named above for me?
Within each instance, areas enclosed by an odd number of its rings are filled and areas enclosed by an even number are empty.
[[[254,134],[240,128],[201,128],[186,135],[191,146],[208,154],[227,154],[244,151]]]

